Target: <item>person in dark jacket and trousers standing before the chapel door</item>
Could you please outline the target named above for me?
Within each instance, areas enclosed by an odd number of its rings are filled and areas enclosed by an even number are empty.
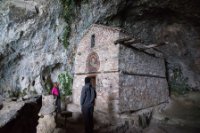
[[[93,111],[94,102],[96,98],[96,92],[91,85],[91,79],[89,77],[85,78],[85,85],[81,91],[81,111],[83,114],[85,133],[93,133]]]

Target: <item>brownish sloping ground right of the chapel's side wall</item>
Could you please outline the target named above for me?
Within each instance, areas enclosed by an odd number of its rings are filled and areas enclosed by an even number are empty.
[[[198,133],[200,131],[200,93],[172,96],[169,104],[153,115],[150,127],[163,133]],[[151,133],[151,132],[150,132]]]

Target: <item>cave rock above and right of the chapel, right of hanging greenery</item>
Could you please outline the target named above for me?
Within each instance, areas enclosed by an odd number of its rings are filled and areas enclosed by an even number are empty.
[[[125,29],[166,58],[169,86],[200,90],[200,2],[198,0],[93,0],[76,7],[71,43],[92,24]]]

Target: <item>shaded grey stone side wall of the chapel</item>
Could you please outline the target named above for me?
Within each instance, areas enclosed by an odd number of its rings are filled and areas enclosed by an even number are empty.
[[[167,101],[168,83],[162,58],[120,45],[120,111],[136,111]]]

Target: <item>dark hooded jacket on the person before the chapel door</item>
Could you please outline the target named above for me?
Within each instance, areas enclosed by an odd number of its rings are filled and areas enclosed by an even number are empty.
[[[96,98],[95,89],[92,88],[90,83],[85,84],[81,91],[81,106],[93,106]]]

